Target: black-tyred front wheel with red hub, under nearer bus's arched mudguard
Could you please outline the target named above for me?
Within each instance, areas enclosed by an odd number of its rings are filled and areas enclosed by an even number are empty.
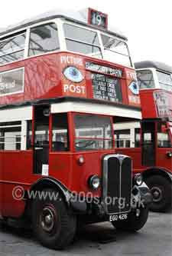
[[[47,189],[44,194],[57,194]],[[76,232],[76,216],[71,214],[63,199],[36,198],[32,205],[32,224],[37,240],[51,249],[63,249],[73,241]]]

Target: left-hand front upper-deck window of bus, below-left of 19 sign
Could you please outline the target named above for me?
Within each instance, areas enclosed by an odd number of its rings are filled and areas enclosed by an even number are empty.
[[[96,58],[102,58],[97,32],[75,25],[64,24],[64,34],[67,43],[67,50],[80,52]]]

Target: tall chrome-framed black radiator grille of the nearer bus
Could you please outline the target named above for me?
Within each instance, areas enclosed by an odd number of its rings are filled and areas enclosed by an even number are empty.
[[[106,155],[103,159],[103,199],[108,214],[130,211],[131,158]]]

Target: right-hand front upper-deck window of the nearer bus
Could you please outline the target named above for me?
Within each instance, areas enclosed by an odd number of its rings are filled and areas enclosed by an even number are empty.
[[[125,42],[112,38],[109,35],[102,36],[102,45],[104,47],[104,58],[109,62],[115,62],[121,65],[132,66]]]

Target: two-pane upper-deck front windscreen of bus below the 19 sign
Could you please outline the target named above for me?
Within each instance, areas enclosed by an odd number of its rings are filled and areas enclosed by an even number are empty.
[[[67,50],[132,67],[128,46],[122,40],[68,23],[63,25],[63,29]]]

